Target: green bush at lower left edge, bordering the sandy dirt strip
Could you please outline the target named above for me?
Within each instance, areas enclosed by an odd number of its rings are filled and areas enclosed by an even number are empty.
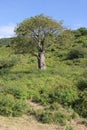
[[[28,103],[22,99],[15,99],[13,95],[0,95],[0,115],[22,116],[28,110]]]

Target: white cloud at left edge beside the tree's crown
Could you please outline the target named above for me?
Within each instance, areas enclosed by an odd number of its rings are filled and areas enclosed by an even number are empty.
[[[0,38],[7,38],[14,36],[15,35],[14,28],[15,28],[14,24],[0,26]]]

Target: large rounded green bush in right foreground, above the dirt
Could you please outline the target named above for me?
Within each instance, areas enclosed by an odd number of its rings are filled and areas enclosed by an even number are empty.
[[[77,99],[77,90],[73,86],[63,85],[55,88],[49,96],[51,103],[58,102],[69,106]]]

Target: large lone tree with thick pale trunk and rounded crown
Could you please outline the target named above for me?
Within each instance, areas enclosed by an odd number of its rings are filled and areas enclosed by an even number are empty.
[[[28,51],[37,57],[38,68],[46,69],[45,52],[62,30],[61,22],[38,15],[24,20],[17,26],[15,32],[21,43],[19,48],[20,46],[29,48]]]

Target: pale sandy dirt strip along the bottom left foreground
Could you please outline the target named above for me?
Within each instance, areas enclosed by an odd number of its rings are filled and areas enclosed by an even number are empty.
[[[42,124],[34,117],[23,116],[21,118],[7,118],[0,116],[0,130],[62,130],[57,125]]]

